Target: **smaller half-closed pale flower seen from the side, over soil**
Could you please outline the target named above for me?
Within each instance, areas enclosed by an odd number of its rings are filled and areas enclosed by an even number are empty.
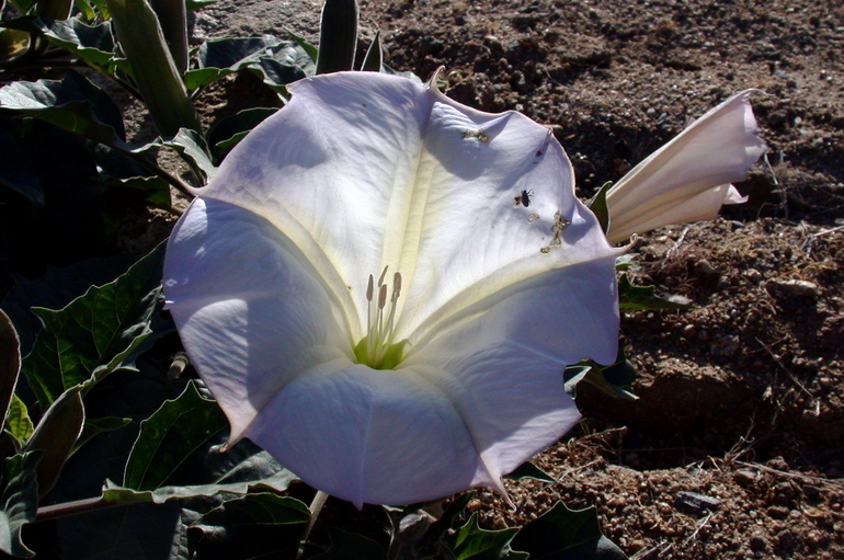
[[[733,95],[693,122],[606,194],[612,243],[670,224],[714,219],[723,204],[745,202],[743,181],[767,151],[748,96]]]

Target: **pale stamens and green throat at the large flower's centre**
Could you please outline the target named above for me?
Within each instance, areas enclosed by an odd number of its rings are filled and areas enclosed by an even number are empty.
[[[361,339],[354,347],[358,364],[367,365],[374,369],[392,369],[401,362],[404,344],[408,341],[394,343],[396,301],[401,295],[401,274],[392,275],[392,292],[384,282],[387,276],[387,266],[378,277],[376,288],[375,277],[369,275],[369,284],[366,287],[366,336]],[[389,307],[387,294],[390,294]]]

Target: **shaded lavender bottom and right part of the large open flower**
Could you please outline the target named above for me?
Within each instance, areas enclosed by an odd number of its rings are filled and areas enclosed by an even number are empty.
[[[580,419],[563,367],[589,342],[615,356],[615,343],[601,342],[618,321],[607,270],[588,263],[535,279],[398,370],[312,368],[246,435],[309,484],[358,506],[479,485],[503,492],[503,475]]]

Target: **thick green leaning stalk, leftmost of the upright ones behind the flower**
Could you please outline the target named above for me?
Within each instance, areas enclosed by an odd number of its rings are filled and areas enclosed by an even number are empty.
[[[161,25],[146,0],[105,0],[135,83],[161,135],[180,128],[202,133],[187,90],[167,47]]]

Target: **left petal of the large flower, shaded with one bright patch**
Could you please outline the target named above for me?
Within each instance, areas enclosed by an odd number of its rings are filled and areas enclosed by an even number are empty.
[[[168,242],[167,307],[231,423],[231,443],[301,372],[351,364],[328,295],[297,253],[263,218],[203,198]]]

